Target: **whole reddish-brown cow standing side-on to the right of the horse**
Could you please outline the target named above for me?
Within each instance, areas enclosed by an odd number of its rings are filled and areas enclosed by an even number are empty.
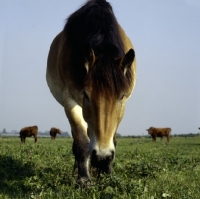
[[[151,135],[153,141],[156,141],[156,137],[160,137],[161,140],[163,137],[167,137],[167,141],[170,140],[171,128],[154,128],[150,127],[147,129],[148,133]]]

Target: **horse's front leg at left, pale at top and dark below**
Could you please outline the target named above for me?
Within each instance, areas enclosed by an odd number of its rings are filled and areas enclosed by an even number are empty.
[[[66,115],[71,125],[73,136],[73,154],[75,156],[74,171],[78,168],[77,182],[85,186],[90,181],[89,175],[89,138],[87,124],[82,117],[82,109],[76,105],[71,109],[65,108]],[[74,173],[73,171],[73,173]]]

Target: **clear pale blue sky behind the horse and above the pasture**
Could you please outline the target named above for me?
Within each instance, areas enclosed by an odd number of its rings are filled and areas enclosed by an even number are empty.
[[[38,125],[71,132],[46,83],[54,37],[85,0],[0,0],[0,132]],[[137,59],[136,87],[119,125],[121,135],[172,134],[200,127],[200,0],[110,0]]]

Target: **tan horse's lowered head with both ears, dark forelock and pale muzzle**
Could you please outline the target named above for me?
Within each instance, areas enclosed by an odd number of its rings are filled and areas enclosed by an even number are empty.
[[[116,131],[131,94],[128,72],[134,57],[134,50],[130,49],[123,57],[107,62],[101,56],[95,57],[90,49],[85,59],[87,75],[82,91],[82,111],[88,125],[91,164],[105,173],[111,172]],[[107,64],[111,64],[110,69]]]

